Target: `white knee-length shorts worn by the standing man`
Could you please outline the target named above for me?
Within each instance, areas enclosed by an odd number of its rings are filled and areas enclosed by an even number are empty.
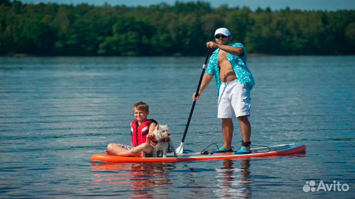
[[[218,97],[218,118],[250,115],[250,89],[237,79],[221,84]]]

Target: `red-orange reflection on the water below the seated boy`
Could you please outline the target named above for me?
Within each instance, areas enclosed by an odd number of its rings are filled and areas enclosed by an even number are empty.
[[[167,175],[174,164],[92,163],[92,167],[96,177],[91,182],[93,185],[126,187],[131,190],[132,199],[164,199],[167,195],[156,193],[161,192],[160,189],[165,185],[171,184]]]

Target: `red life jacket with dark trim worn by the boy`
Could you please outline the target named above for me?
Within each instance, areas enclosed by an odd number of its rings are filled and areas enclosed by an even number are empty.
[[[138,124],[138,120],[131,123],[131,137],[132,145],[138,146],[146,141],[146,136],[149,133],[149,127],[151,123],[157,124],[155,120],[147,120],[141,125]]]

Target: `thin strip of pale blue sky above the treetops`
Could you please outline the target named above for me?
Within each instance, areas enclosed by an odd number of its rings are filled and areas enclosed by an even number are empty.
[[[126,6],[148,6],[166,2],[174,4],[176,0],[21,0],[24,3],[39,2],[56,2],[63,4],[79,4],[88,3],[94,5],[103,5],[107,2],[110,5],[126,5]],[[197,1],[197,0],[179,0],[180,2]],[[283,9],[288,6],[291,9],[301,10],[328,10],[335,11],[340,9],[355,9],[355,0],[200,0],[210,2],[213,7],[219,7],[221,4],[227,4],[229,7],[248,6],[250,9],[267,8],[272,10]]]

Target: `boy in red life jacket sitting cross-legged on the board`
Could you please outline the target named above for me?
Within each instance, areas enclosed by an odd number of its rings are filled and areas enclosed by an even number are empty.
[[[154,128],[158,125],[155,120],[147,119],[149,115],[148,104],[140,101],[133,106],[133,113],[136,120],[131,122],[132,146],[126,144],[110,143],[105,153],[114,156],[150,156],[152,145],[150,138],[154,137]]]

